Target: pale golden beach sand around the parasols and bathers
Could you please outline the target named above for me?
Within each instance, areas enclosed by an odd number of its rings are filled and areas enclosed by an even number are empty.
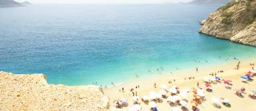
[[[188,69],[188,70],[179,70],[176,72],[173,72],[173,74],[159,74],[154,77],[143,77],[143,78],[137,78],[132,81],[123,83],[122,85],[118,85],[115,87],[110,87],[105,89],[105,95],[107,95],[110,99],[110,109],[109,110],[128,110],[130,106],[133,105],[132,101],[132,92],[130,91],[131,88],[134,88],[135,91],[138,92],[138,97],[149,95],[150,91],[155,91],[159,93],[161,89],[161,85],[167,85],[168,88],[171,88],[173,85],[176,85],[179,87],[180,91],[183,89],[191,89],[191,87],[197,88],[196,83],[197,81],[200,83],[200,86],[205,91],[205,85],[204,81],[202,80],[205,76],[209,76],[209,74],[212,74],[214,72],[217,72],[217,76],[221,79],[231,79],[232,80],[232,89],[226,89],[224,83],[217,83],[217,84],[211,84],[213,92],[207,92],[206,93],[206,100],[202,102],[202,104],[198,105],[198,108],[201,111],[252,111],[256,109],[256,99],[251,99],[248,97],[248,94],[243,94],[244,97],[237,97],[235,93],[235,89],[241,89],[242,86],[245,87],[245,93],[247,91],[256,90],[256,81],[251,81],[249,83],[243,83],[241,82],[241,79],[239,79],[239,76],[244,76],[246,72],[251,70],[252,66],[250,66],[250,63],[256,64],[256,56],[253,56],[252,58],[248,58],[246,60],[240,60],[240,68],[239,70],[235,70],[237,60],[233,60],[232,62],[225,62],[221,64],[213,64],[209,66],[204,66],[201,68],[198,68],[198,72],[196,72],[195,68]],[[222,73],[218,73],[218,70],[224,70]],[[188,79],[189,77],[194,77],[194,79]],[[213,77],[213,76],[212,76]],[[187,78],[185,80],[185,78]],[[176,81],[174,82],[173,79]],[[168,81],[171,80],[172,83],[168,83]],[[153,84],[156,83],[156,88],[153,87]],[[135,88],[136,85],[140,85],[140,88]],[[124,87],[124,92],[122,92],[122,87]],[[121,89],[121,91],[119,91]],[[169,96],[170,94],[167,93]],[[123,108],[114,108],[114,100],[119,98],[126,98],[128,99],[129,105],[127,107]],[[230,100],[231,107],[226,107],[223,104],[220,104],[222,108],[216,108],[212,105],[212,97],[216,97],[220,100],[220,98],[226,98]],[[190,101],[192,100],[192,93],[189,93],[187,100],[188,102],[188,109],[192,110],[192,106]],[[140,100],[141,102],[141,100]],[[143,102],[140,104],[142,106],[142,110],[150,110],[150,107]],[[167,99],[163,99],[163,102],[157,103],[157,110],[160,111],[169,111],[172,110],[173,106],[170,106],[167,103]],[[181,108],[181,106],[178,106]]]

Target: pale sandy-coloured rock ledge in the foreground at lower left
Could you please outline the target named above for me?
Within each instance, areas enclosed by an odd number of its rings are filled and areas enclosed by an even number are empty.
[[[0,110],[107,110],[97,86],[50,85],[44,74],[0,72]]]

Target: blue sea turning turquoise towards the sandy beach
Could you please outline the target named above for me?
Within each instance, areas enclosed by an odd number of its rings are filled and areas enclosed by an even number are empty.
[[[54,84],[88,85],[97,81],[98,85],[110,85],[112,81],[134,79],[135,74],[153,76],[175,67],[194,68],[227,58],[255,56],[255,47],[198,33],[198,22],[218,7],[167,4],[3,8],[0,70],[43,73]],[[157,68],[161,71],[157,72]]]

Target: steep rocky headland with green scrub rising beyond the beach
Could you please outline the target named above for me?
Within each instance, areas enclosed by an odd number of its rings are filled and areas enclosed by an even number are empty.
[[[232,1],[200,24],[200,33],[256,47],[255,0]]]

